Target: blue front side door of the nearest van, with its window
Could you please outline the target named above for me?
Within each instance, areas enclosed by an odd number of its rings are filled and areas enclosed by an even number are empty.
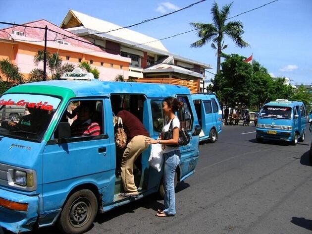
[[[100,134],[95,133],[91,125],[88,125],[88,130],[85,125],[75,128],[79,126],[77,124],[80,119],[75,119],[77,116],[69,113],[79,108],[82,103],[89,105],[92,126],[97,123]],[[66,114],[66,111],[69,113]],[[72,119],[67,119],[66,116]],[[113,201],[114,181],[111,180],[115,178],[115,147],[109,100],[72,100],[68,103],[61,121],[72,122],[71,133],[76,132],[77,135],[59,139],[56,128],[44,149],[43,210],[60,209],[69,192],[80,184],[93,184],[97,189],[104,189],[103,202]],[[85,136],[78,135],[80,129]]]

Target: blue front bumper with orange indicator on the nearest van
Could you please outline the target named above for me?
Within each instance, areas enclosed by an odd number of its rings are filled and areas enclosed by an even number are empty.
[[[27,196],[0,188],[0,227],[13,233],[32,230],[38,217],[39,196]]]

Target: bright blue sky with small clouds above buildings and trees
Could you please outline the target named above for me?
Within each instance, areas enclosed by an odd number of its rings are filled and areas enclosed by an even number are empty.
[[[27,23],[46,19],[60,25],[69,9],[128,26],[142,20],[183,8],[198,0],[0,0],[0,21]],[[233,2],[230,17],[259,7],[272,0],[216,0],[221,7]],[[194,29],[190,22],[212,23],[213,0],[206,0],[188,9],[156,19],[131,30],[156,39]],[[248,48],[238,48],[225,37],[226,54],[253,55],[273,77],[288,77],[292,84],[312,84],[312,0],[278,0],[260,9],[237,16],[244,25],[243,40]],[[0,24],[0,28],[7,25]],[[216,51],[208,43],[191,48],[197,41],[195,32],[162,41],[173,54],[210,64],[216,72]],[[213,78],[208,73],[208,78]]]

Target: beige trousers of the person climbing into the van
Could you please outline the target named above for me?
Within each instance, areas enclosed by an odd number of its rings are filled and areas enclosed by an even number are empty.
[[[142,151],[148,147],[145,138],[146,136],[143,135],[133,137],[122,155],[121,179],[125,192],[138,194],[137,187],[134,184],[133,164]]]

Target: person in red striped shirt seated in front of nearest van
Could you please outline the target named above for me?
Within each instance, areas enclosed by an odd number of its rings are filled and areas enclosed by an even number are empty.
[[[77,119],[71,124],[71,136],[95,136],[101,134],[99,123],[91,119],[90,107],[81,104],[77,111]]]

